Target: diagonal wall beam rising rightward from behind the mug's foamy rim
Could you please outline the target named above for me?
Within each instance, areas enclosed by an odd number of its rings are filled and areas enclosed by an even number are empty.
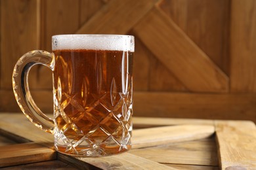
[[[126,34],[157,0],[118,0],[108,2],[76,33]]]

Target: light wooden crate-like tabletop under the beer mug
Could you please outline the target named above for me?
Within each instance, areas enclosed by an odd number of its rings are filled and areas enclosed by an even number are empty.
[[[256,127],[249,121],[133,118],[133,148],[101,158],[56,152],[53,135],[24,114],[0,113],[3,169],[256,169]]]

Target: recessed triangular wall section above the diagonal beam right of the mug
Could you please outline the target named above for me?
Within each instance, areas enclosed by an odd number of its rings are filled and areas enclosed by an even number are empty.
[[[160,8],[229,74],[230,0],[165,0],[161,1]]]

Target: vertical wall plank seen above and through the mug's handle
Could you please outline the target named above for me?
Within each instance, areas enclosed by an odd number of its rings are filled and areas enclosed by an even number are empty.
[[[51,52],[53,35],[75,33],[79,28],[79,0],[48,0],[41,1],[41,4],[40,48]],[[29,80],[31,89],[49,91],[53,89],[52,71],[43,65],[32,68]]]

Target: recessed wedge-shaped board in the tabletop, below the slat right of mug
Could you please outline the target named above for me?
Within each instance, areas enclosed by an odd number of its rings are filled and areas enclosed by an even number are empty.
[[[164,164],[218,166],[215,137],[199,141],[169,143],[151,148],[132,149],[129,153]]]

